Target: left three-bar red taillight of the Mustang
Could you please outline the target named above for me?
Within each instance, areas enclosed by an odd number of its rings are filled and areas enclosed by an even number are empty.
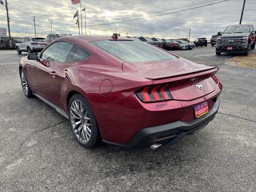
[[[142,102],[158,102],[172,100],[172,95],[169,91],[169,84],[158,85],[154,87],[145,87],[136,92],[136,95]]]

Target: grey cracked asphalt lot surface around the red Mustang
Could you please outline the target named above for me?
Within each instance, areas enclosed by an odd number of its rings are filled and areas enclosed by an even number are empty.
[[[255,50],[254,50],[255,52]],[[174,51],[217,64],[219,113],[175,145],[128,150],[82,148],[68,120],[24,96],[22,55],[0,51],[0,191],[256,191],[256,70],[224,64],[214,47]]]

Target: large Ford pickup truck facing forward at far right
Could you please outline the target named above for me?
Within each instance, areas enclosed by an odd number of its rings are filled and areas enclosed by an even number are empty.
[[[250,48],[255,48],[255,43],[256,30],[252,24],[231,25],[217,38],[216,54],[232,52],[248,55]]]

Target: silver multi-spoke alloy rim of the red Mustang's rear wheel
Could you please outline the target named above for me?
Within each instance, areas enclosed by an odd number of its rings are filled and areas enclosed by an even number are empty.
[[[75,99],[70,106],[70,121],[76,138],[83,144],[88,143],[91,138],[91,123],[88,111],[84,104]]]

